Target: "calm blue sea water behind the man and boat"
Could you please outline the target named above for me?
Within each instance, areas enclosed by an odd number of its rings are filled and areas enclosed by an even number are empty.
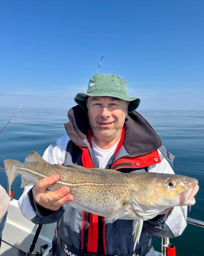
[[[0,110],[0,130],[16,109]],[[204,220],[204,111],[140,111],[161,137],[163,144],[176,156],[174,171],[191,176],[199,181],[196,204],[188,217]],[[65,134],[68,121],[64,109],[26,109],[15,115],[0,134],[0,167],[3,159],[10,158],[24,162],[30,151],[43,155],[44,150]],[[21,178],[17,177],[12,188],[18,199]],[[5,173],[0,172],[0,184],[7,189]],[[204,229],[188,224],[181,236],[170,239],[176,245],[177,255],[203,255]],[[161,239],[154,238],[153,245],[161,250]]]

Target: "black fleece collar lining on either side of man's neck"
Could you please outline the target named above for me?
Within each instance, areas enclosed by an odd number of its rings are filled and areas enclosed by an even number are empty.
[[[89,124],[86,113],[79,105],[68,111],[70,122],[64,127],[71,141],[79,146],[87,147],[86,139]],[[128,114],[125,119],[124,147],[130,155],[138,155],[160,148],[161,139],[152,126],[137,111]]]

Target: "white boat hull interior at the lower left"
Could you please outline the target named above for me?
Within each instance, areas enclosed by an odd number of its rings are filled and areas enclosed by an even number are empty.
[[[29,251],[38,225],[32,223],[22,216],[18,207],[18,201],[10,201],[7,220],[2,234],[1,256],[25,256]],[[52,238],[55,235],[56,223],[45,224],[42,226],[34,252],[40,252],[40,246],[47,244],[48,247],[43,250],[43,256],[49,255],[49,249],[52,246]]]

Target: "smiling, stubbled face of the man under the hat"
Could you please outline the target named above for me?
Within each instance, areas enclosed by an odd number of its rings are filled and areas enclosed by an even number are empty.
[[[98,139],[112,141],[122,132],[128,104],[124,100],[95,96],[87,98],[88,122]]]

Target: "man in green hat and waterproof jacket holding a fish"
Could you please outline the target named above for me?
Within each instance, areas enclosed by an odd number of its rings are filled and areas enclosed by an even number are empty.
[[[139,98],[129,97],[125,80],[113,74],[91,77],[87,94],[78,93],[78,104],[68,111],[67,135],[50,145],[44,159],[50,164],[77,164],[121,172],[173,173],[166,158],[173,156],[162,146],[152,126],[136,111]],[[163,155],[164,154],[164,155]],[[105,220],[68,203],[68,187],[44,193],[58,174],[25,189],[19,199],[22,214],[36,224],[57,221],[57,236],[50,255],[154,255],[151,235],[174,237],[186,226],[186,207],[166,209],[143,224],[139,245],[133,251],[132,220]],[[185,209],[185,211],[184,211]]]

